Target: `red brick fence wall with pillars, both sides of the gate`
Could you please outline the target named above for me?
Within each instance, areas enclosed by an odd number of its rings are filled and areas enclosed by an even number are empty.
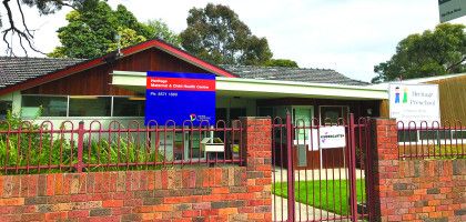
[[[0,175],[0,221],[271,221],[271,120],[243,119],[245,167]],[[466,221],[466,160],[398,160],[393,120],[376,120],[375,215]]]

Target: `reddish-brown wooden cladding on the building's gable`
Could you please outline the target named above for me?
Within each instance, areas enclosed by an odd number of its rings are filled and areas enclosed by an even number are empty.
[[[119,71],[169,71],[211,73],[164,51],[152,48],[114,62],[73,73],[34,88],[23,94],[73,94],[73,95],[134,95],[134,92],[111,85],[113,70]]]

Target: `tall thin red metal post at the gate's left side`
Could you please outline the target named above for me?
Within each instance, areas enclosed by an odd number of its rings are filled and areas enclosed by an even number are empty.
[[[286,168],[288,186],[288,221],[294,221],[294,169],[293,169],[293,124],[290,111],[286,112]]]

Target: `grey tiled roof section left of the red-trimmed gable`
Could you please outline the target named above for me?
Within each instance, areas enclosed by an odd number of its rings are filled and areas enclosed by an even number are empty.
[[[0,57],[0,89],[80,63],[82,59]]]

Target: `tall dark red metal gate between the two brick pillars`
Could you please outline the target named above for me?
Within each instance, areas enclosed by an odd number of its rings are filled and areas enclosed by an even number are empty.
[[[341,147],[325,147],[323,133],[344,134]],[[372,221],[369,119],[273,121],[273,221]]]

